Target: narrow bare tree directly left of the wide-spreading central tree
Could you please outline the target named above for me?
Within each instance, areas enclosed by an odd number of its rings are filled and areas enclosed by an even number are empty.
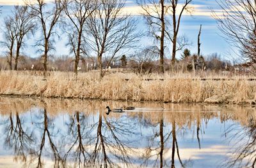
[[[77,74],[80,55],[86,53],[83,43],[86,20],[97,7],[97,1],[64,0],[64,5],[65,14],[71,22],[65,24],[68,27],[65,32],[68,34],[68,45],[76,58],[74,73]]]

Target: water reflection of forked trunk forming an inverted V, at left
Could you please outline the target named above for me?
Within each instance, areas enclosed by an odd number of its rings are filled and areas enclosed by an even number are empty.
[[[59,167],[61,162],[61,157],[60,154],[58,152],[58,149],[56,148],[56,145],[53,143],[52,141],[52,135],[49,131],[49,127],[54,127],[51,123],[50,123],[50,119],[47,116],[47,111],[44,108],[44,128],[43,128],[43,132],[42,132],[42,140],[40,143],[40,150],[38,151],[38,165],[37,167],[42,167],[43,163],[42,163],[42,151],[44,149],[45,146],[45,140],[48,139],[49,144],[51,146],[51,150],[52,150],[52,154],[54,156],[54,167]],[[53,129],[53,128],[52,128]]]

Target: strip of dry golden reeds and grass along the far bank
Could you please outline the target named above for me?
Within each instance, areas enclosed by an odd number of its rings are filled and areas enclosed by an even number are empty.
[[[97,76],[97,73],[79,73],[76,78],[73,73],[51,72],[44,78],[38,72],[0,71],[0,95],[163,102],[207,99],[210,103],[233,104],[256,99],[256,81],[248,81],[245,76],[232,76],[234,80],[224,81],[202,81],[200,76],[189,73],[151,76],[116,73],[102,80]],[[203,77],[230,79],[218,74]],[[154,80],[145,80],[148,78]]]

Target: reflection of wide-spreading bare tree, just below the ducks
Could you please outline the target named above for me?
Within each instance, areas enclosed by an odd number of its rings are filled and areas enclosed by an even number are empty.
[[[97,135],[90,132],[91,143],[94,146],[90,164],[97,167],[122,167],[112,162],[116,159],[128,166],[131,162],[129,155],[132,153],[129,144],[134,143],[130,138],[132,134],[136,134],[133,126],[134,123],[127,122],[126,118],[125,120],[122,117],[117,120],[106,118],[100,111],[99,122],[93,125],[93,128],[97,127]]]

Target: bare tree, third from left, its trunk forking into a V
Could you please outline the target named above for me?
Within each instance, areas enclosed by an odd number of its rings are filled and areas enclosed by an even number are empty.
[[[45,0],[26,0],[25,2],[29,8],[31,8],[31,15],[33,15],[38,23],[40,23],[40,29],[42,29],[42,39],[38,40],[36,46],[43,48],[41,51],[44,52],[43,64],[44,73],[46,73],[48,52],[49,50],[54,49],[54,39],[52,39],[52,36],[58,35],[54,31],[54,28],[60,19],[64,6],[60,0],[54,0],[52,4],[47,4]]]

